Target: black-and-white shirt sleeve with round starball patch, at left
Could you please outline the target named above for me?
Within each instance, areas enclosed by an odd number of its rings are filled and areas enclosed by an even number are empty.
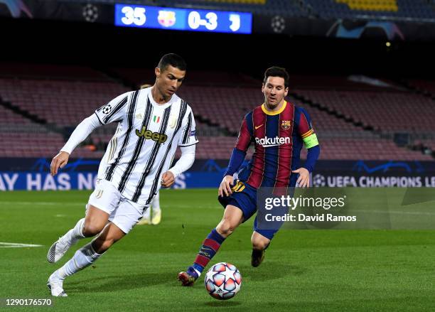
[[[131,100],[131,93],[127,92],[115,97],[107,104],[95,111],[100,124],[119,122],[127,118],[128,103]]]

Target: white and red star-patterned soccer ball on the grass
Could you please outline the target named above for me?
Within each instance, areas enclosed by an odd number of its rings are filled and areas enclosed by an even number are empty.
[[[205,289],[213,298],[227,300],[235,296],[242,286],[242,275],[227,262],[215,264],[205,274]]]

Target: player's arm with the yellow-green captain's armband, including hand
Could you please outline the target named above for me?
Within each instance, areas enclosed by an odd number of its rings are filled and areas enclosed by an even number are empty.
[[[313,172],[318,156],[320,155],[320,146],[314,129],[311,125],[311,119],[308,113],[302,109],[298,125],[299,134],[301,135],[304,146],[308,149],[306,161],[303,167],[292,172],[299,173],[299,178],[296,181],[302,188],[310,186],[310,173]]]

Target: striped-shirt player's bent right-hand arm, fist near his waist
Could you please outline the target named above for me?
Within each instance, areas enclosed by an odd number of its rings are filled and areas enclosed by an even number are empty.
[[[178,146],[181,149],[181,157],[176,164],[161,176],[161,186],[169,188],[175,179],[184,171],[187,171],[195,161],[195,146],[198,144],[196,137],[195,118],[192,109],[188,112],[187,118],[183,121],[183,131],[181,131]]]

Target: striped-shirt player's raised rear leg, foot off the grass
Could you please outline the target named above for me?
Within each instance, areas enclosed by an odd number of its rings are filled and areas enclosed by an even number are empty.
[[[88,204],[86,217],[78,220],[73,229],[59,237],[59,240],[54,242],[50,249],[48,249],[48,262],[58,262],[78,240],[85,237],[93,237],[100,233],[104,225],[107,224],[108,218],[108,213]]]

